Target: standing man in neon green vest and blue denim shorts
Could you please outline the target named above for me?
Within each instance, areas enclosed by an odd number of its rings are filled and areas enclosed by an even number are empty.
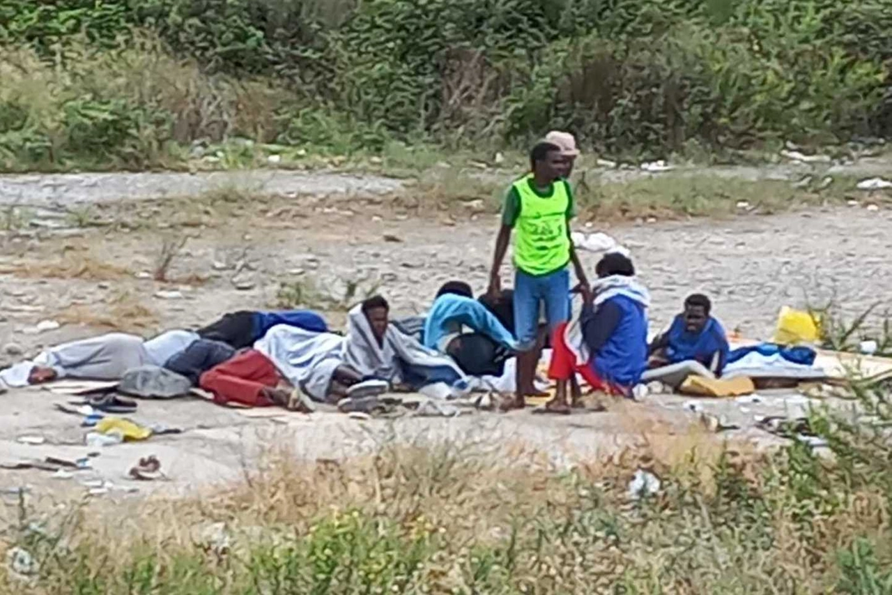
[[[517,391],[506,408],[522,408],[525,397],[540,394],[533,386],[543,339],[538,332],[540,306],[545,306],[549,332],[569,319],[568,264],[573,262],[577,279],[588,288],[570,239],[574,202],[573,191],[563,179],[568,171],[566,157],[557,145],[540,142],[530,153],[530,165],[532,172],[516,180],[505,198],[490,273],[489,293],[497,296],[501,264],[514,230]]]

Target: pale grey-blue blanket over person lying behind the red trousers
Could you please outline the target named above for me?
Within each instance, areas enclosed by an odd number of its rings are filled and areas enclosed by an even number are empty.
[[[345,339],[331,332],[277,324],[254,343],[285,378],[310,398],[325,401],[332,375],[342,364]]]

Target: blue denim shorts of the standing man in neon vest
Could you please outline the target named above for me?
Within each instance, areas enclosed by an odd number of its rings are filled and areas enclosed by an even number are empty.
[[[545,304],[549,332],[570,318],[570,272],[564,268],[541,277],[517,271],[514,277],[514,331],[517,349],[529,351],[536,344],[540,305]]]

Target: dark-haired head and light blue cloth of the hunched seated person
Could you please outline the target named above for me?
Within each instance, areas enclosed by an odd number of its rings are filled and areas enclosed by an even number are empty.
[[[422,343],[426,348],[447,353],[450,342],[465,328],[489,337],[504,348],[514,350],[517,347],[514,336],[486,306],[474,299],[467,283],[450,281],[437,291],[434,304],[427,313]]]

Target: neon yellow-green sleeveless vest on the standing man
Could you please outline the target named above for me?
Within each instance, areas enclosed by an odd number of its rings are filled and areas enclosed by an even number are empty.
[[[554,182],[554,192],[542,198],[530,187],[531,176],[514,182],[520,197],[520,215],[515,224],[514,263],[531,275],[558,271],[570,262],[566,209],[570,204],[566,182]]]

